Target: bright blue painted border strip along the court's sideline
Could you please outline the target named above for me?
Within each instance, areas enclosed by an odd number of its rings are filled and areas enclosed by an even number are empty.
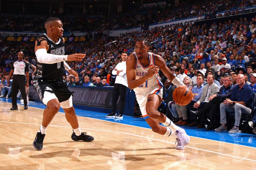
[[[12,103],[11,99],[0,98],[0,101]],[[21,103],[20,101],[18,101],[17,104],[23,105],[23,103]],[[28,102],[28,106],[29,106],[28,109],[31,109],[30,107],[36,107],[36,108],[42,108],[42,109],[46,107],[43,103],[36,103],[36,102]],[[147,122],[140,117],[123,115],[123,119],[115,119],[115,118],[107,118],[106,115],[108,113],[85,110],[77,107],[75,107],[75,110],[76,110],[76,115],[79,115],[79,116],[151,129],[147,124]],[[62,108],[60,108],[59,112],[64,113]],[[220,142],[227,142],[231,144],[238,144],[238,145],[244,145],[244,146],[250,146],[250,147],[256,148],[256,135],[247,134],[247,133],[231,134],[231,133],[228,133],[227,131],[216,132],[214,130],[197,129],[196,127],[188,127],[188,126],[180,126],[180,127],[184,128],[186,130],[186,133],[192,137],[199,137],[204,139],[210,139],[210,140],[215,140]],[[152,133],[154,132],[152,131]],[[211,141],[209,141],[209,144],[211,144]]]

